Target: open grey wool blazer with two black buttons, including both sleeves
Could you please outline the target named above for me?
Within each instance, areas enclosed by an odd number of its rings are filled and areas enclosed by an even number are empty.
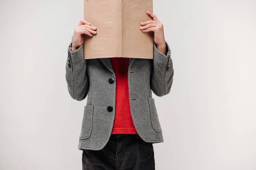
[[[67,88],[75,100],[87,97],[78,148],[101,150],[111,136],[115,118],[116,77],[109,58],[84,59],[84,44],[74,52],[71,45],[66,63]],[[174,70],[167,42],[167,56],[155,43],[153,48],[154,59],[129,58],[128,88],[138,135],[145,142],[160,143],[164,142],[163,134],[151,90],[157,96],[169,94]]]

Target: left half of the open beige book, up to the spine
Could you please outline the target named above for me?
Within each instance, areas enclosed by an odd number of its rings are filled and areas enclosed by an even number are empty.
[[[84,35],[84,59],[122,57],[122,0],[84,0],[84,20],[97,28]]]

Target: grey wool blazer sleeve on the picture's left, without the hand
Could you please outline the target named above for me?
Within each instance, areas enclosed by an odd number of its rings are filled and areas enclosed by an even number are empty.
[[[66,62],[66,81],[70,96],[78,101],[88,94],[87,60],[84,59],[84,44],[76,51],[71,51],[72,42],[68,45]]]

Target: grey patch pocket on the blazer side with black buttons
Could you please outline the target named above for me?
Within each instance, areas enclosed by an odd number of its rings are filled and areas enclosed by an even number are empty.
[[[87,139],[93,128],[93,105],[84,106],[84,115],[79,139]]]

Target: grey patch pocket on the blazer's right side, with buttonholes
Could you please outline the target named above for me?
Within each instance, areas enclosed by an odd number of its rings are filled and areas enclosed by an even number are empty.
[[[154,131],[162,132],[162,128],[158,119],[157,108],[155,106],[154,99],[151,97],[148,97],[148,104],[149,104],[149,110],[150,110],[151,125]]]

